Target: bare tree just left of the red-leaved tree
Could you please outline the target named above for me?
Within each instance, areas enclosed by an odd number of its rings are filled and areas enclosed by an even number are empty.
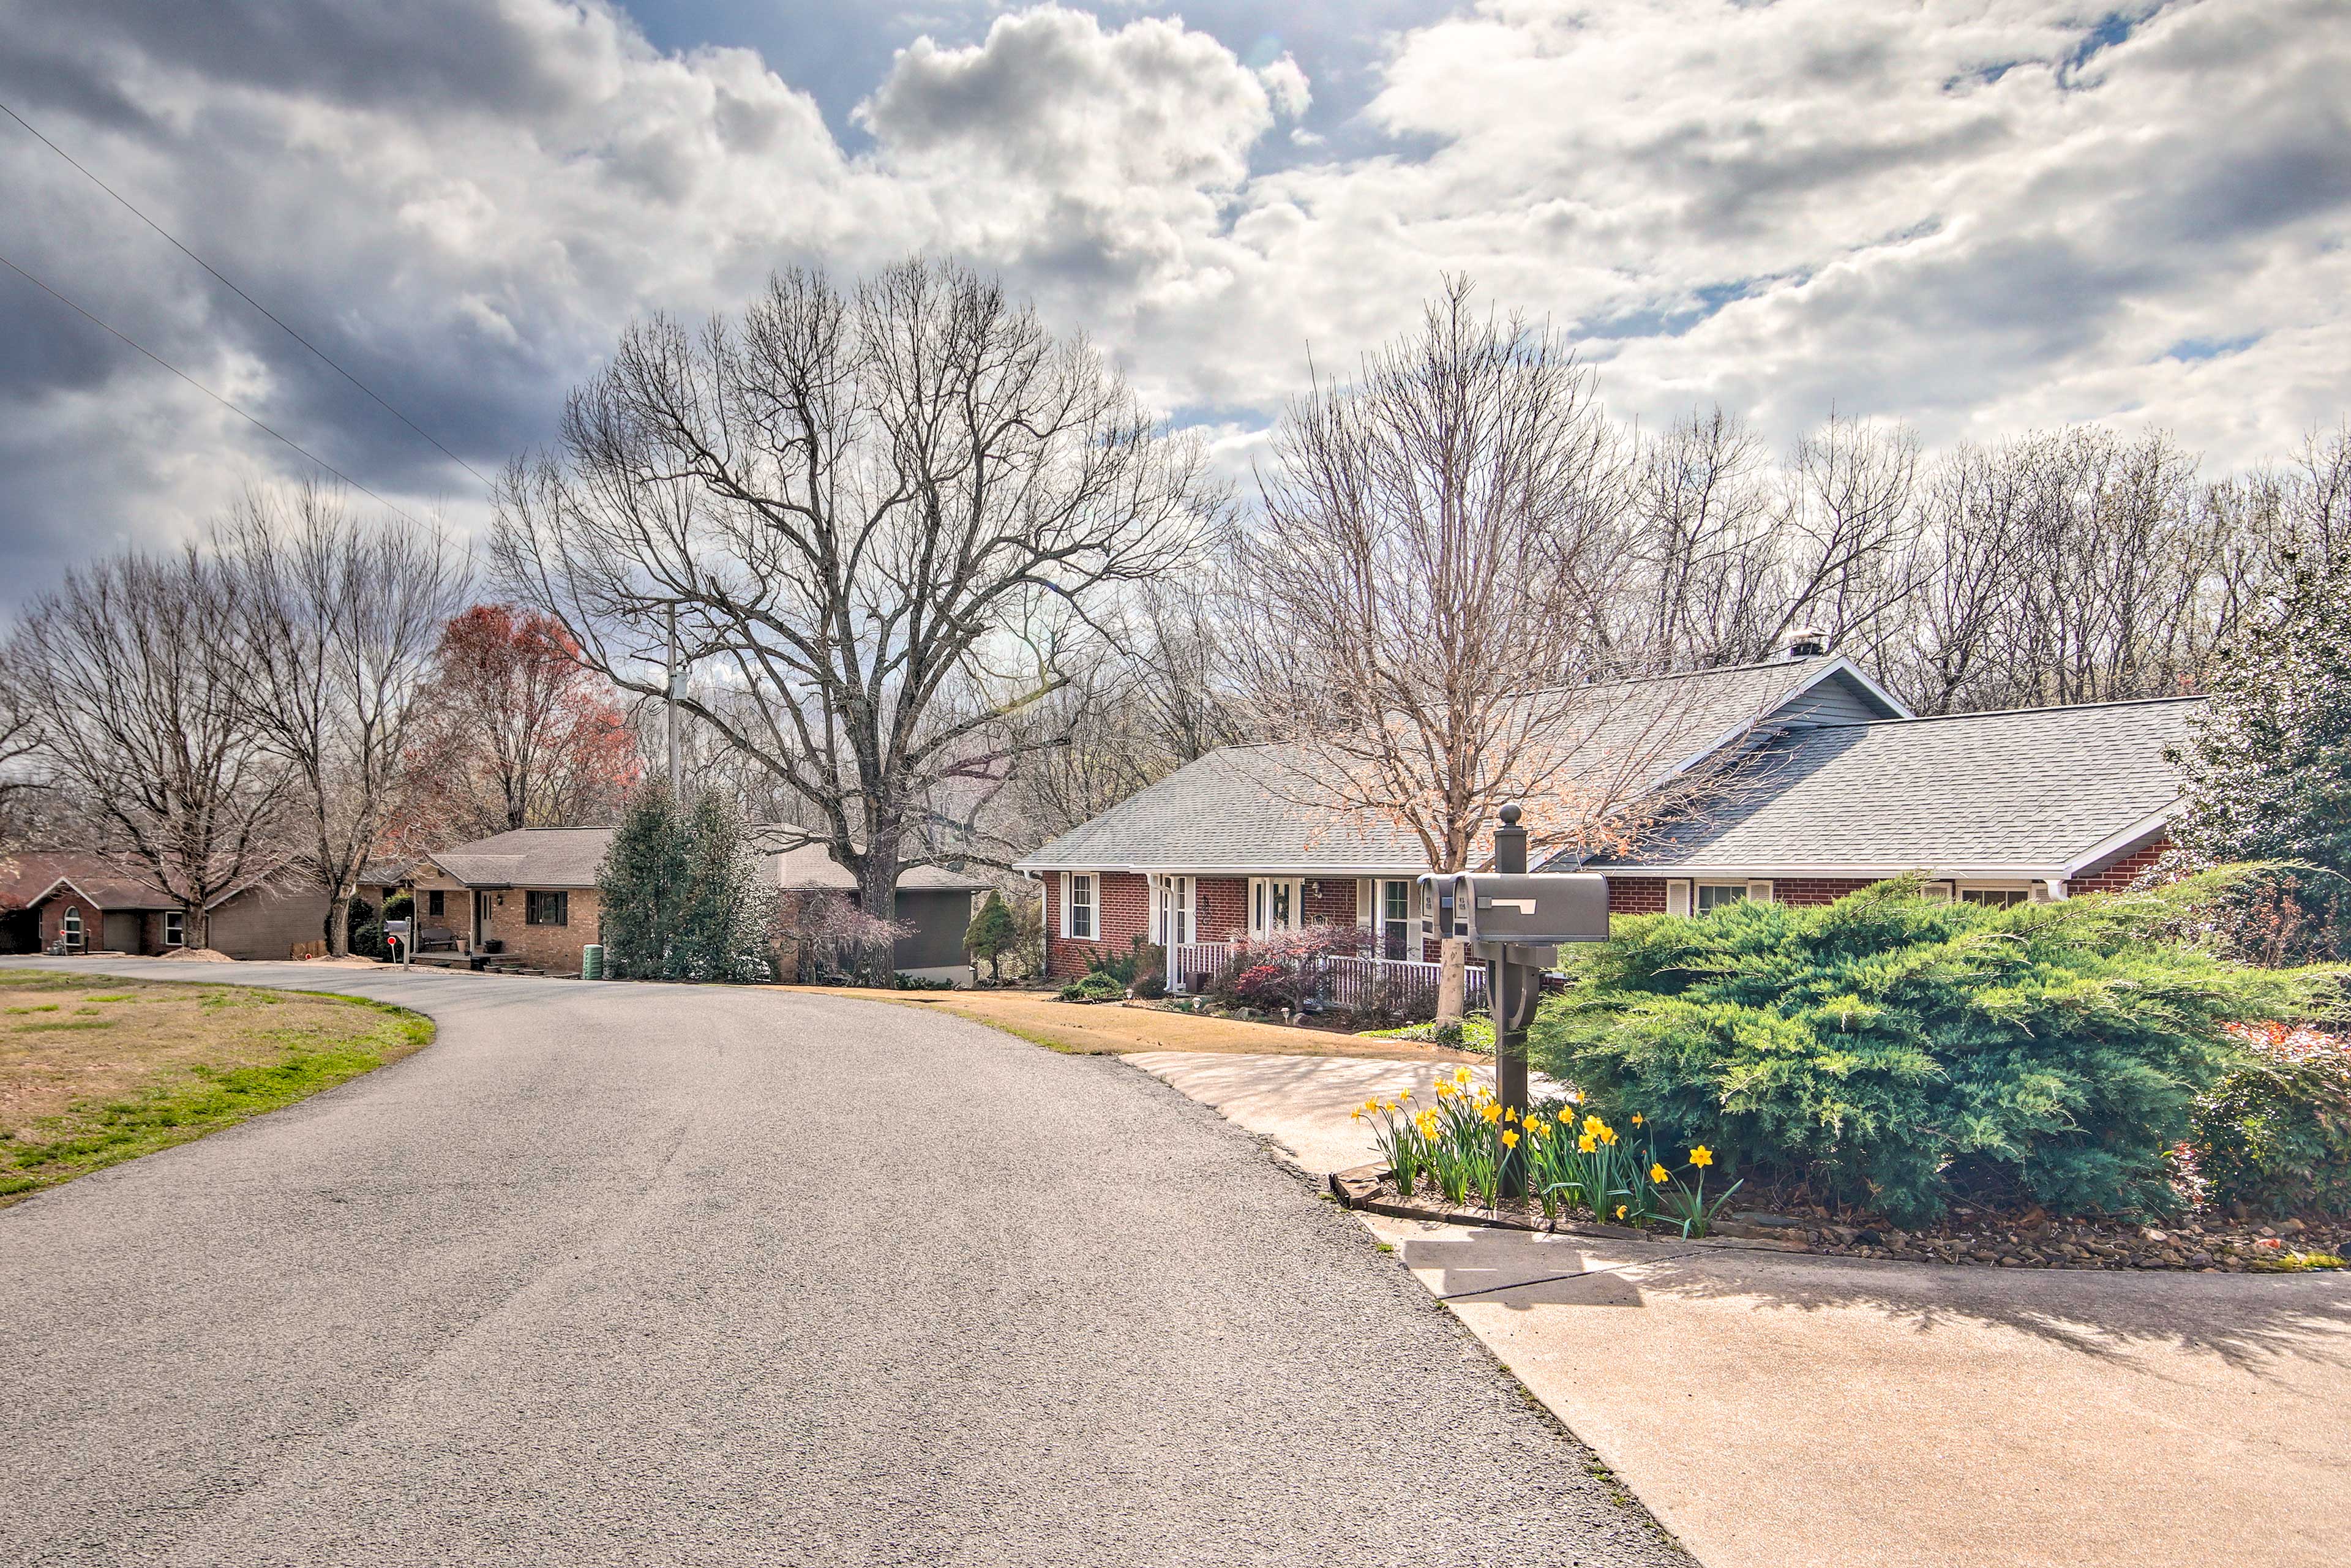
[[[249,491],[221,529],[240,583],[237,691],[299,780],[303,856],[327,893],[327,952],[350,952],[350,900],[411,783],[418,693],[468,567],[437,531],[360,524],[343,496]]]

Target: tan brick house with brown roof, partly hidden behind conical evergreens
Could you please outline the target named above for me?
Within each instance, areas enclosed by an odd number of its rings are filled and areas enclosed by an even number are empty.
[[[426,856],[409,879],[418,952],[498,952],[531,969],[578,973],[581,950],[602,940],[595,884],[614,832],[618,830],[515,827]],[[799,835],[797,827],[764,832]],[[856,886],[816,846],[771,851],[766,865],[788,896]],[[907,867],[898,877],[898,914],[915,922],[912,936],[900,938],[893,954],[900,971],[971,983],[964,929],[971,924],[971,896],[980,886],[931,865]]]

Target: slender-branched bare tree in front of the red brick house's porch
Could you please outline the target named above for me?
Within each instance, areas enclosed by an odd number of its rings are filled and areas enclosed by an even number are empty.
[[[1554,839],[1594,832],[1648,771],[1643,733],[1582,684],[1627,503],[1592,371],[1465,280],[1418,334],[1284,411],[1262,520],[1230,552],[1248,708],[1293,738],[1293,785],[1385,818],[1462,870],[1505,802]],[[1439,1018],[1462,1013],[1444,936]]]

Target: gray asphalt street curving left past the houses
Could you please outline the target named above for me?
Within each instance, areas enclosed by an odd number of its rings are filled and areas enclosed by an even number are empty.
[[[1117,1060],[790,992],[106,969],[440,1039],[0,1211],[12,1563],[1686,1561]]]

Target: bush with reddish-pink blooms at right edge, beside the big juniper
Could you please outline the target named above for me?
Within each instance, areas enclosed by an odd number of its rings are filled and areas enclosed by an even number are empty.
[[[2222,1206],[2351,1213],[2351,1041],[2241,1025],[2245,1063],[2196,1098],[2189,1159]]]

